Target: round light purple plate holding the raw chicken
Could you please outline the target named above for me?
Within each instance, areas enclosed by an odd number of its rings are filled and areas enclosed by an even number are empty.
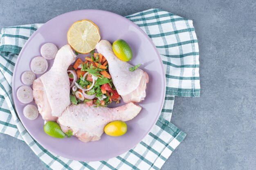
[[[124,39],[132,49],[131,64],[141,63],[141,69],[149,75],[146,98],[139,105],[141,112],[134,119],[127,121],[127,133],[121,137],[111,137],[106,134],[99,141],[83,143],[76,137],[56,139],[45,134],[44,121],[41,116],[36,120],[26,119],[22,113],[25,104],[18,101],[16,90],[22,86],[20,76],[30,70],[29,63],[40,55],[40,47],[46,42],[52,42],[60,49],[67,44],[67,31],[79,20],[92,20],[99,27],[101,40],[111,43]],[[84,61],[85,55],[79,55]],[[51,68],[53,60],[48,60]],[[48,70],[49,70],[48,68]],[[40,75],[37,75],[39,77]],[[31,86],[32,87],[32,86]],[[121,155],[135,147],[155,125],[164,103],[165,73],[162,60],[148,35],[130,20],[101,10],[79,10],[64,13],[41,26],[22,48],[13,73],[13,100],[18,116],[29,134],[44,148],[65,158],[78,161],[100,161]],[[35,104],[35,102],[31,102]],[[121,103],[119,105],[122,105]],[[36,104],[35,104],[36,105]],[[111,104],[111,107],[119,106]]]

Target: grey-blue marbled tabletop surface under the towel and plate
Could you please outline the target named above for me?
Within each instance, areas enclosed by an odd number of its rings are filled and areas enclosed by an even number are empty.
[[[160,8],[193,20],[201,97],[175,97],[172,123],[187,133],[162,170],[255,170],[255,0],[0,0],[0,28],[44,23],[76,9],[129,15]],[[30,148],[0,134],[0,170],[46,170]]]

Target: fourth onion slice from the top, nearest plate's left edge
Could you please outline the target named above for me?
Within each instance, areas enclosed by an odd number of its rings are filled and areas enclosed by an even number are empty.
[[[33,101],[33,91],[29,86],[20,86],[17,90],[17,98],[23,104]]]

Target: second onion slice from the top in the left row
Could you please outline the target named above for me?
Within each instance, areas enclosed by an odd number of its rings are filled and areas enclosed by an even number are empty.
[[[44,57],[34,57],[30,62],[30,69],[35,74],[43,74],[47,68],[48,62]]]

